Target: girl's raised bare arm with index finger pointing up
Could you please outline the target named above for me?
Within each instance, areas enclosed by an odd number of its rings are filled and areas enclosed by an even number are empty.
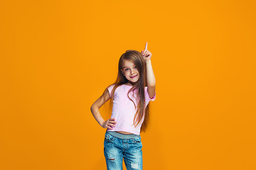
[[[154,94],[156,94],[156,79],[154,77],[154,72],[151,65],[152,55],[151,55],[151,52],[147,50],[147,42],[146,42],[145,50],[142,51],[142,55],[144,57],[144,60],[146,61],[146,83],[148,86],[149,97],[153,98]]]

